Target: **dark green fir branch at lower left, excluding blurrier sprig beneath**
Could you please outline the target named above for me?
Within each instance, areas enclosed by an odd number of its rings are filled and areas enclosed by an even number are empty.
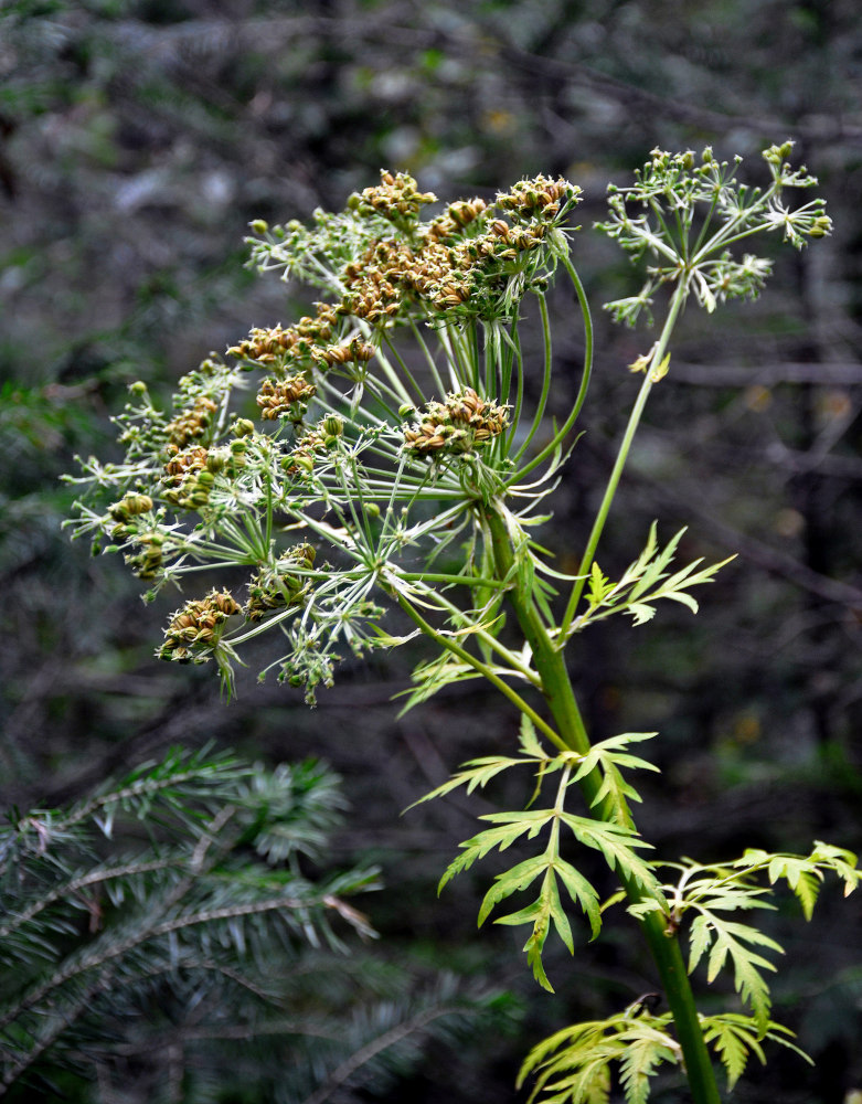
[[[305,872],[326,860],[342,807],[317,764],[267,772],[174,751],[70,809],[10,818],[2,1084],[45,1053],[79,1068],[106,1019],[130,1038],[156,994],[189,1015],[199,1000],[217,1009],[214,1030],[220,1017],[258,1019],[280,999],[267,959],[372,936],[349,898],[375,889],[375,871]]]

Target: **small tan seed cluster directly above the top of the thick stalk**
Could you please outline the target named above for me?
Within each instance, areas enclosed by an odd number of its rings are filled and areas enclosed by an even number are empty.
[[[472,388],[430,402],[418,422],[404,429],[404,450],[414,456],[462,456],[481,448],[507,427],[508,406],[481,399]]]

